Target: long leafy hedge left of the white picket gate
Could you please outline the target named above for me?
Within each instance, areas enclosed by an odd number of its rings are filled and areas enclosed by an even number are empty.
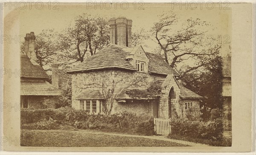
[[[49,130],[58,128],[56,124],[59,124],[71,125],[78,129],[154,135],[153,118],[136,113],[123,112],[111,116],[89,115],[85,110],[62,107],[59,109],[22,110],[20,117],[22,129]]]

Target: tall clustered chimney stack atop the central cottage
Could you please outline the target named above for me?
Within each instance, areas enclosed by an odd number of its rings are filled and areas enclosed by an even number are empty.
[[[112,18],[108,21],[112,44],[131,47],[132,20],[125,17]]]

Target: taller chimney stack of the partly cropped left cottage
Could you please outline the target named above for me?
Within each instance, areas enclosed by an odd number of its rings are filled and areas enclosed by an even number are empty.
[[[35,34],[34,32],[30,32],[30,34],[26,34],[25,37],[25,52],[29,59],[36,61],[35,55]]]

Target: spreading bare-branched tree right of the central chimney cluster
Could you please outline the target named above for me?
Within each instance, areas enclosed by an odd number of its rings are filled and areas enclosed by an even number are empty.
[[[159,53],[163,52],[165,61],[172,68],[176,68],[181,62],[193,59],[194,65],[183,70],[178,78],[180,79],[186,73],[209,65],[209,60],[219,53],[221,46],[215,44],[214,39],[202,42],[202,36],[207,32],[204,31],[204,27],[209,26],[205,21],[189,18],[186,22],[179,23],[178,20],[173,12],[162,14],[151,31],[160,47]]]

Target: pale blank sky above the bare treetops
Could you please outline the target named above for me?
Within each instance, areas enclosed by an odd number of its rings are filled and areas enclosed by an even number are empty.
[[[89,6],[90,5],[90,6]],[[61,32],[67,28],[70,23],[74,23],[74,18],[79,14],[87,13],[91,15],[99,15],[101,17],[113,18],[113,17],[127,17],[133,21],[132,31],[139,31],[144,28],[149,31],[159,19],[159,15],[167,11],[172,11],[179,17],[179,23],[182,23],[188,18],[199,18],[203,21],[210,23],[212,26],[204,28],[204,31],[208,31],[203,38],[207,39],[208,35],[212,35],[217,39],[218,35],[221,35],[221,54],[227,55],[231,51],[231,10],[225,10],[215,6],[212,9],[202,5],[195,9],[190,9],[187,6],[174,6],[172,3],[165,4],[148,4],[148,3],[129,3],[126,4],[112,4],[110,3],[95,4],[86,3],[58,3],[49,4],[44,3],[42,9],[37,9],[32,5],[32,8],[26,7],[24,10],[20,10],[20,35],[25,35],[30,31],[35,32],[35,35],[41,33],[43,29],[54,29]],[[53,9],[57,6],[58,9]],[[190,7],[194,7],[191,6]],[[110,9],[108,9],[110,8]],[[179,26],[179,25],[177,25]],[[225,42],[226,41],[226,42]],[[230,43],[229,43],[230,42]],[[145,40],[144,49],[147,52],[151,52],[158,45],[151,39]]]

